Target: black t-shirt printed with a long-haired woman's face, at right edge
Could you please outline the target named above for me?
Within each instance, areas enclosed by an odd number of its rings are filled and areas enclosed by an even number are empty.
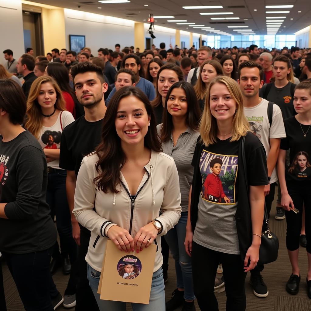
[[[286,181],[311,181],[311,128],[300,124],[295,117],[284,120],[286,137],[280,148],[290,149],[290,166],[286,168]],[[307,132],[308,131],[308,132]],[[306,135],[306,136],[304,136]]]

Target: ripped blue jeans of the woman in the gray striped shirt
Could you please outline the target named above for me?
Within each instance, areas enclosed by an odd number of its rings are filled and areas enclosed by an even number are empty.
[[[193,300],[193,280],[191,257],[185,250],[184,242],[186,238],[188,212],[182,212],[178,224],[169,230],[164,236],[169,249],[175,260],[175,271],[177,277],[177,287],[185,290],[184,299]]]

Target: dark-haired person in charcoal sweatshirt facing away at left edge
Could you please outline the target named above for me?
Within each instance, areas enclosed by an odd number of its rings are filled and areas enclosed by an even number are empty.
[[[47,162],[20,126],[25,114],[21,87],[0,79],[0,251],[25,310],[53,311],[63,297],[49,272],[57,233],[45,202]]]

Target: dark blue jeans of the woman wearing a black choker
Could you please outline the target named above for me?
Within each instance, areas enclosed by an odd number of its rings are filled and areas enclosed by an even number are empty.
[[[69,255],[73,263],[77,258],[77,245],[72,237],[72,225],[70,211],[66,195],[65,169],[58,169],[55,173],[49,173],[48,187],[46,190],[46,202],[51,209],[51,217],[56,216],[56,227],[59,234],[60,249],[63,257]],[[52,257],[59,255],[58,243],[56,242]]]

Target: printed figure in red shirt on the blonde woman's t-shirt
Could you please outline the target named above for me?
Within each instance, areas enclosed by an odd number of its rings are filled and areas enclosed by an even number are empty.
[[[225,203],[230,203],[230,199],[226,197],[224,189],[222,187],[219,174],[221,171],[222,160],[215,158],[211,160],[211,174],[208,174],[204,182],[204,199],[216,203],[221,203],[221,198],[225,200]]]

